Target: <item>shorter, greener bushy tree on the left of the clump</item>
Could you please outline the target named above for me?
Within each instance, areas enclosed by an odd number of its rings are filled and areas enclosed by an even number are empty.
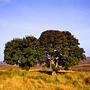
[[[29,69],[36,64],[36,48],[37,39],[33,36],[13,39],[5,45],[4,62]]]

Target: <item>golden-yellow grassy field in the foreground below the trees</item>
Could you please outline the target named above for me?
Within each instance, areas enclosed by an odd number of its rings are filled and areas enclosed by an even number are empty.
[[[90,71],[49,75],[0,66],[0,90],[90,90]]]

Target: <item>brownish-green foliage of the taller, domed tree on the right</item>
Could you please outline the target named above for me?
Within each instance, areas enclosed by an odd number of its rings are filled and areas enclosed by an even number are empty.
[[[40,46],[47,49],[55,61],[55,52],[58,50],[58,65],[68,69],[85,59],[83,48],[79,47],[78,39],[76,39],[68,31],[47,30],[42,32],[39,38]]]

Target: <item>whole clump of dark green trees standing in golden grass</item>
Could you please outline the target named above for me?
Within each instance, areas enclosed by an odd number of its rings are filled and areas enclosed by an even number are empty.
[[[4,62],[27,70],[44,62],[53,70],[58,70],[59,66],[68,69],[85,59],[84,53],[84,49],[79,47],[78,39],[69,31],[47,30],[41,33],[39,39],[26,36],[7,42]]]

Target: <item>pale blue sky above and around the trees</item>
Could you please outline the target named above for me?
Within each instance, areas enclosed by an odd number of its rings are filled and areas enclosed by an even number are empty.
[[[0,0],[0,59],[8,41],[49,29],[70,31],[90,56],[90,0]]]

